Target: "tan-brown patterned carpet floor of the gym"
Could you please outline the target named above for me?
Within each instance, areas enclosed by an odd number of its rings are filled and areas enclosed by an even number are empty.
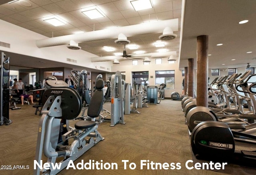
[[[256,169],[226,165],[225,170],[210,171],[187,169],[186,161],[206,162],[196,160],[191,153],[190,137],[182,113],[181,101],[164,99],[160,104],[149,104],[148,108],[138,109],[140,114],[124,115],[126,124],[103,122],[98,131],[105,137],[74,163],[90,159],[103,163],[117,163],[118,169],[103,170],[74,170],[64,169],[60,175],[215,175],[256,174]],[[20,106],[18,104],[18,106]],[[110,110],[110,102],[104,104]],[[34,169],[35,149],[37,142],[39,115],[35,115],[35,108],[25,104],[22,109],[10,110],[11,125],[0,126],[0,165],[26,165],[28,169],[0,170],[0,175],[32,175]],[[74,121],[70,123],[74,125]],[[45,160],[45,158],[44,158]],[[136,168],[124,169],[122,160],[135,163]],[[142,160],[157,163],[180,163],[180,169],[140,169]],[[189,164],[190,167],[193,165]],[[176,166],[178,167],[178,166]]]

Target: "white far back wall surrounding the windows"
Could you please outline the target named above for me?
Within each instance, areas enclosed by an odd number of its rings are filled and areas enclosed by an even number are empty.
[[[125,82],[132,82],[132,72],[142,72],[148,71],[149,76],[149,85],[155,85],[155,71],[161,70],[175,70],[175,89],[165,89],[164,96],[171,97],[171,93],[177,91],[182,94],[182,71],[178,69],[178,61],[175,61],[174,64],[168,64],[167,58],[162,59],[162,64],[155,64],[155,59],[150,59],[151,62],[149,65],[144,65],[142,60],[138,60],[138,65],[132,66],[132,60],[120,61],[120,64],[113,65],[111,70],[112,72],[120,71],[125,72]],[[153,76],[153,78],[150,78]]]

